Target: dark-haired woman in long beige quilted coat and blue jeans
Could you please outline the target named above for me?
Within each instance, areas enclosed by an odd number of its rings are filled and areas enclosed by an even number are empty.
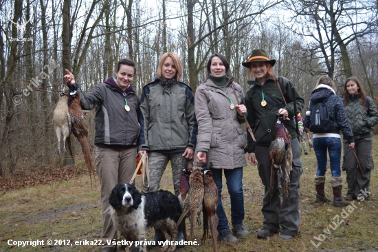
[[[234,83],[230,64],[222,54],[213,54],[208,61],[208,79],[202,83],[195,95],[194,109],[198,122],[197,162],[212,162],[213,178],[219,198],[216,213],[219,218],[219,240],[236,243],[237,238],[248,234],[243,226],[244,196],[243,167],[246,139],[241,123],[247,112],[243,103],[243,89]],[[238,96],[236,98],[235,94]],[[222,205],[222,171],[227,180],[231,197],[232,235]],[[236,237],[235,237],[236,236]]]

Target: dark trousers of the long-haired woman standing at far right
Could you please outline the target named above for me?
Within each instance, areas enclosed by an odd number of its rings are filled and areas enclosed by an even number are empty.
[[[348,195],[357,197],[361,193],[362,196],[364,196],[361,190],[369,191],[371,169],[374,168],[372,139],[373,138],[364,138],[355,140],[354,149],[349,149],[347,140],[343,140],[344,158],[342,168],[346,171]],[[357,161],[352,151],[355,151],[363,172],[357,167]]]

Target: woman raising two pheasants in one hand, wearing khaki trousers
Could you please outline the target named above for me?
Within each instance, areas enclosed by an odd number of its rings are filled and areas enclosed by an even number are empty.
[[[74,75],[66,70],[67,82],[76,83]],[[96,108],[95,165],[101,185],[102,202],[102,252],[113,251],[108,240],[117,240],[117,231],[111,220],[109,196],[118,183],[131,180],[137,157],[137,138],[140,132],[138,114],[139,98],[133,90],[136,67],[131,59],[118,61],[115,78],[109,77],[87,93],[81,91],[83,109]]]

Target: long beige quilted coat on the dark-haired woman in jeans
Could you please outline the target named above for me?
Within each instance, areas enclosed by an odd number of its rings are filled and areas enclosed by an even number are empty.
[[[198,121],[197,150],[208,149],[207,162],[213,168],[234,169],[247,166],[244,147],[247,144],[236,107],[230,109],[230,100],[236,106],[234,90],[238,100],[243,103],[243,89],[234,83],[233,77],[227,77],[223,92],[210,78],[202,83],[195,96],[195,109]]]

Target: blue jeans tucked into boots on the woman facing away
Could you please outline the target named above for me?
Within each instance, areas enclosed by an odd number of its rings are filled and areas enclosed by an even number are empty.
[[[329,153],[329,164],[333,177],[340,177],[340,158],[342,156],[342,141],[340,138],[325,137],[313,138],[313,150],[318,160],[318,171],[316,176],[324,176],[326,174],[327,165],[327,149]]]

